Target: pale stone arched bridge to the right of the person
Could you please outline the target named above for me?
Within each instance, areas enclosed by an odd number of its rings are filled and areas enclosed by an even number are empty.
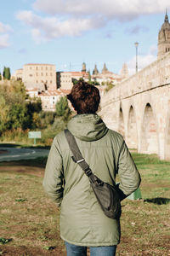
[[[170,53],[106,93],[99,115],[129,148],[170,160]]]

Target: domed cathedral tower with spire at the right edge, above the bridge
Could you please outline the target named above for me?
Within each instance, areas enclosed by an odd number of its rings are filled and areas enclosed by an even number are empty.
[[[158,35],[158,52],[157,57],[161,58],[167,52],[170,52],[170,23],[167,16],[167,10],[164,23]]]

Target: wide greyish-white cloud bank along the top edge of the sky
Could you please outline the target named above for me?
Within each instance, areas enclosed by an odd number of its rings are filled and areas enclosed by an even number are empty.
[[[168,0],[36,0],[33,8],[51,15],[99,15],[107,19],[132,20],[139,15],[170,9]]]

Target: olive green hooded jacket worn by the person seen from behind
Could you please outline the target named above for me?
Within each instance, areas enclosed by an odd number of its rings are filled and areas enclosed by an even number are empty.
[[[120,177],[122,198],[139,187],[140,176],[126,143],[97,114],[78,114],[68,123],[82,156],[96,176],[107,183]],[[105,216],[88,177],[71,159],[62,131],[48,155],[43,187],[60,207],[60,236],[80,246],[111,246],[120,241],[120,221]]]

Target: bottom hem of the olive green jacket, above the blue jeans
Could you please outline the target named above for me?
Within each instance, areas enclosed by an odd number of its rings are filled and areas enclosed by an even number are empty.
[[[68,239],[65,239],[65,237],[61,236],[61,239],[64,241],[67,241],[71,244],[74,244],[76,246],[82,246],[82,247],[111,247],[115,246],[120,243],[119,241],[111,241],[111,242],[77,242],[77,241],[70,241]]]

